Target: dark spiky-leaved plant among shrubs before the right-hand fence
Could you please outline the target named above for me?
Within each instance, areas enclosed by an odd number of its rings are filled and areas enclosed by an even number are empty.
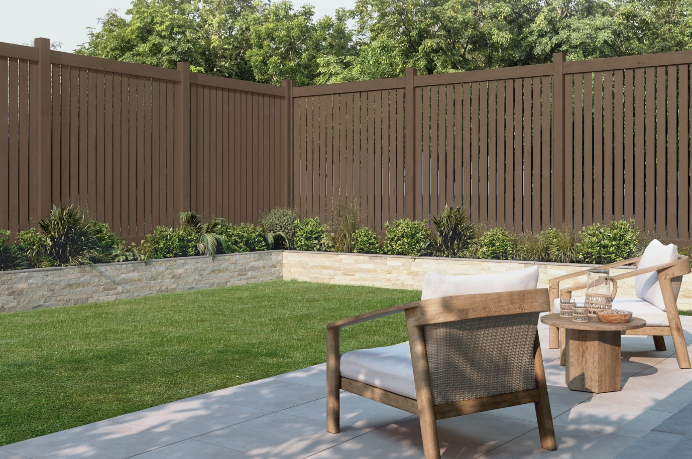
[[[475,226],[464,214],[464,207],[444,206],[439,216],[431,218],[435,225],[435,256],[462,257],[468,253],[468,248],[475,238]]]

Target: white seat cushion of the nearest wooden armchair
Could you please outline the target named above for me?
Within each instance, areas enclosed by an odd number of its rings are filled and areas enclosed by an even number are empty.
[[[343,377],[416,398],[411,350],[408,344],[352,350],[341,355]]]

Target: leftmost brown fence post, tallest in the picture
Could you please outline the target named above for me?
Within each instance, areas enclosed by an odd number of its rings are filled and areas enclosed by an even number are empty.
[[[30,193],[29,218],[36,221],[44,218],[51,209],[51,40],[47,38],[34,39],[34,47],[38,50],[37,72],[37,113],[33,115],[35,124],[36,148],[32,148],[31,158],[31,187],[35,193]]]

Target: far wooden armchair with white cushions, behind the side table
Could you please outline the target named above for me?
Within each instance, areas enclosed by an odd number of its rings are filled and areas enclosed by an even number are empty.
[[[690,272],[690,261],[687,256],[677,254],[675,245],[663,245],[656,239],[637,258],[603,265],[601,268],[617,268],[623,265],[637,264],[637,269],[624,274],[612,276],[619,281],[628,277],[635,279],[636,297],[628,298],[617,295],[613,300],[614,309],[630,310],[635,317],[646,320],[647,326],[637,330],[627,330],[624,335],[650,335],[656,350],[666,350],[664,336],[673,338],[677,364],[680,368],[690,368],[690,358],[687,353],[685,337],[680,325],[680,315],[677,312],[677,294],[680,293],[682,276]],[[588,270],[565,274],[549,282],[550,301],[555,312],[559,312],[559,298],[570,298],[572,292],[586,288],[585,283],[560,288],[560,283],[567,279],[585,276]],[[577,303],[583,303],[583,298],[577,298]],[[558,329],[550,327],[551,348],[560,346],[564,349],[564,330],[558,335]],[[563,353],[564,354],[564,353]],[[563,358],[564,361],[564,358]]]

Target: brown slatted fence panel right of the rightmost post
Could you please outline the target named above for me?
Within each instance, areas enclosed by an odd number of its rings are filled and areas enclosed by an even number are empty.
[[[650,236],[689,245],[689,64],[608,68],[570,78],[569,223],[579,228],[633,219]]]

